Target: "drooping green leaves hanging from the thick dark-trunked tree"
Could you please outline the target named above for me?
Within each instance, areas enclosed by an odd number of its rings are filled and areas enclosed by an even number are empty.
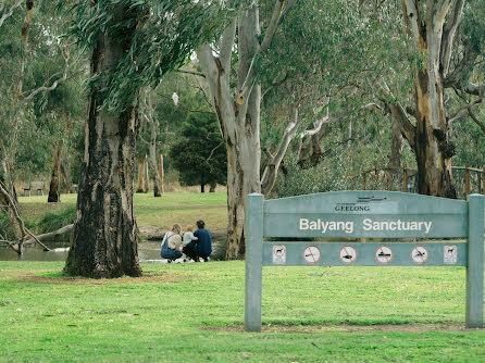
[[[234,4],[237,4],[235,2]],[[129,50],[116,64],[92,76],[89,87],[102,84],[98,98],[110,112],[122,112],[137,97],[134,89],[156,88],[161,77],[185,64],[198,45],[209,41],[234,12],[232,1],[186,0],[83,0],[71,11],[76,22],[71,34],[92,49],[100,34],[125,41],[127,29],[136,27]],[[127,7],[132,16],[116,23],[112,7]]]

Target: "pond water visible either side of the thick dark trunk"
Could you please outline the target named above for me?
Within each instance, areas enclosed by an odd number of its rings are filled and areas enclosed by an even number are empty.
[[[0,261],[64,261],[67,258],[65,243],[43,242],[50,249],[58,251],[45,252],[38,245],[28,246],[23,255],[18,255],[9,247],[0,246]],[[161,262],[161,241],[144,241],[138,245],[140,262]]]

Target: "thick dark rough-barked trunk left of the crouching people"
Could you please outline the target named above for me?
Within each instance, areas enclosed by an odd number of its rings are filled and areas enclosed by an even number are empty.
[[[133,22],[133,11],[112,5],[116,23]],[[91,55],[91,74],[109,73],[129,49],[136,22],[124,38],[101,34]],[[135,107],[117,115],[99,109],[99,85],[90,89],[73,245],[65,271],[70,275],[113,278],[141,276],[133,211]]]

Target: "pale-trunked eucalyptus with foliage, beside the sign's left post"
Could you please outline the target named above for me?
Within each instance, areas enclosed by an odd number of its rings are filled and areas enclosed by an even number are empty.
[[[359,20],[357,1],[253,1],[198,50],[227,149],[227,259],[245,253],[246,195],[270,193],[294,138],[320,142],[323,125],[344,118],[336,99],[366,72],[371,26]],[[277,148],[264,146],[264,168],[261,111],[272,125],[265,129],[279,128]],[[318,142],[315,154],[322,154]]]

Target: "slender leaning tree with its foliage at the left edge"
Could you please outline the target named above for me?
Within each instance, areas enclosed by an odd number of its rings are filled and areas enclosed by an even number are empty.
[[[32,0],[2,1],[0,16],[0,165],[4,182],[0,203],[5,206],[11,224],[16,226],[13,230],[21,231],[23,222],[20,222],[14,188],[18,172],[16,158],[23,151],[20,146],[39,121],[36,97],[67,79],[72,60],[69,43],[60,38],[63,18],[51,3],[37,7]],[[15,233],[14,238],[22,239],[21,235]]]

